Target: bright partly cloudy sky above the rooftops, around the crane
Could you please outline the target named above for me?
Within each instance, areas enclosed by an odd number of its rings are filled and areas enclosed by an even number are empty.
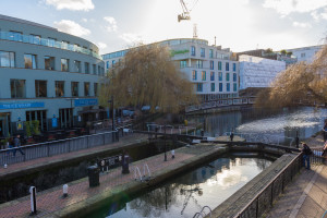
[[[100,53],[172,38],[198,38],[234,52],[316,46],[327,36],[327,0],[0,0],[0,14],[80,36]],[[1,26],[0,26],[1,27]]]

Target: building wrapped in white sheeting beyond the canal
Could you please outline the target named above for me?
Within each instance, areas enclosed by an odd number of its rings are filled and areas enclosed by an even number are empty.
[[[247,55],[239,57],[240,89],[269,87],[276,75],[286,70],[286,62]]]

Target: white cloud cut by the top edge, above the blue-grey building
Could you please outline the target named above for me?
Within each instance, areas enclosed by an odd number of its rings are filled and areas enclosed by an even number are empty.
[[[56,7],[57,10],[89,11],[94,9],[92,0],[46,0],[46,3]]]

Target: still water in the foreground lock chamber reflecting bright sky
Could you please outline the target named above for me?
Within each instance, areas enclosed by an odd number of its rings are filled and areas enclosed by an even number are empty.
[[[193,217],[204,206],[215,208],[270,166],[258,154],[233,154],[160,184],[138,196],[108,202],[93,218]]]

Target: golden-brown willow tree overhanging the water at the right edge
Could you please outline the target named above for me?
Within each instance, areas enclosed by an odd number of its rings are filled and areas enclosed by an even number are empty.
[[[271,87],[258,94],[256,106],[286,107],[304,99],[327,102],[327,46],[312,63],[299,62],[278,74]]]

